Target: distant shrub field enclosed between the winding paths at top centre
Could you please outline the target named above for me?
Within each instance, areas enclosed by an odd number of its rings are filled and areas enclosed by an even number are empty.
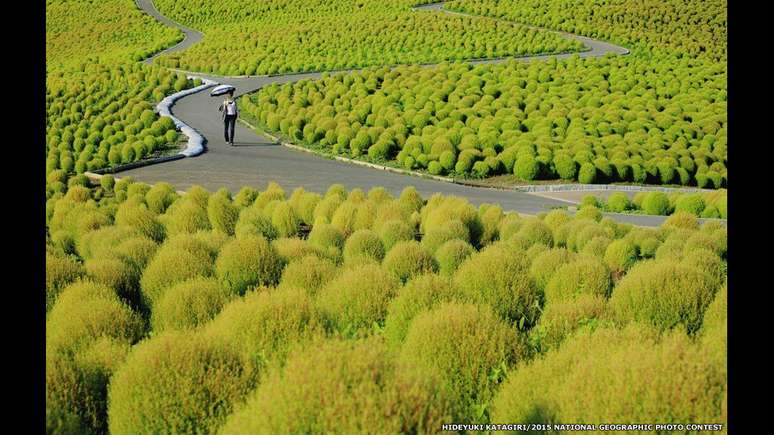
[[[419,0],[156,1],[204,33],[160,65],[220,75],[274,75],[374,65],[564,53],[583,44],[486,18],[415,12]]]

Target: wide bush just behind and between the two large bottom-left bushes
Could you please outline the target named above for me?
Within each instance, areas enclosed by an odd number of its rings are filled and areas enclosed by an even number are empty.
[[[226,305],[204,328],[252,366],[282,362],[293,346],[324,333],[313,300],[302,289],[258,288]]]

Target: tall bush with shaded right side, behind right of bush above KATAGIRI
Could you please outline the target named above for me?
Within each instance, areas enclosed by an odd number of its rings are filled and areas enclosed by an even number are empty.
[[[461,294],[491,306],[503,319],[529,328],[537,320],[540,293],[529,279],[529,258],[500,243],[471,255],[454,274]]]

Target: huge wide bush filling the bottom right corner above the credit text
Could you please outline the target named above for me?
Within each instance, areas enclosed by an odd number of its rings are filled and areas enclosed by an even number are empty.
[[[683,333],[659,341],[640,325],[579,333],[508,377],[492,421],[725,422],[726,362],[712,353]]]

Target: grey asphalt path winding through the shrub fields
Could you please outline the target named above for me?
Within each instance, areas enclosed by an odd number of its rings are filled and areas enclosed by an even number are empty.
[[[172,51],[184,50],[202,38],[202,33],[182,26],[156,10],[151,0],[136,0],[137,5],[162,23],[179,28],[185,33],[185,39],[155,56]],[[416,10],[440,10],[442,3],[425,5]],[[584,57],[601,56],[608,52],[626,54],[628,50],[576,35],[568,35],[584,42],[591,50],[581,52]],[[153,56],[153,57],[155,57]],[[563,57],[567,55],[556,55]],[[541,59],[550,56],[521,57],[518,60]],[[153,58],[144,62],[151,62]],[[477,61],[493,63],[508,59],[490,59]],[[240,94],[254,92],[272,83],[296,82],[304,79],[316,79],[322,73],[288,74],[281,76],[222,77],[207,74],[196,76],[235,86]],[[185,158],[163,164],[145,166],[123,171],[122,175],[132,176],[148,183],[165,181],[179,190],[186,190],[194,184],[214,191],[226,187],[236,192],[243,186],[263,189],[269,181],[276,181],[286,191],[304,187],[309,191],[324,193],[328,186],[341,183],[348,189],[359,187],[368,190],[383,186],[393,194],[398,194],[407,186],[414,186],[424,197],[434,193],[456,195],[467,198],[471,203],[497,203],[504,210],[515,210],[525,214],[537,214],[554,207],[566,207],[567,203],[552,198],[541,197],[512,190],[469,187],[459,184],[430,180],[419,177],[395,174],[387,171],[326,159],[314,154],[286,148],[269,138],[255,134],[237,123],[235,146],[228,146],[223,138],[223,124],[217,110],[219,100],[211,98],[207,92],[199,92],[178,100],[173,113],[205,138],[207,151],[199,157]],[[661,216],[640,216],[609,214],[620,222],[642,226],[657,226],[663,222]]]

